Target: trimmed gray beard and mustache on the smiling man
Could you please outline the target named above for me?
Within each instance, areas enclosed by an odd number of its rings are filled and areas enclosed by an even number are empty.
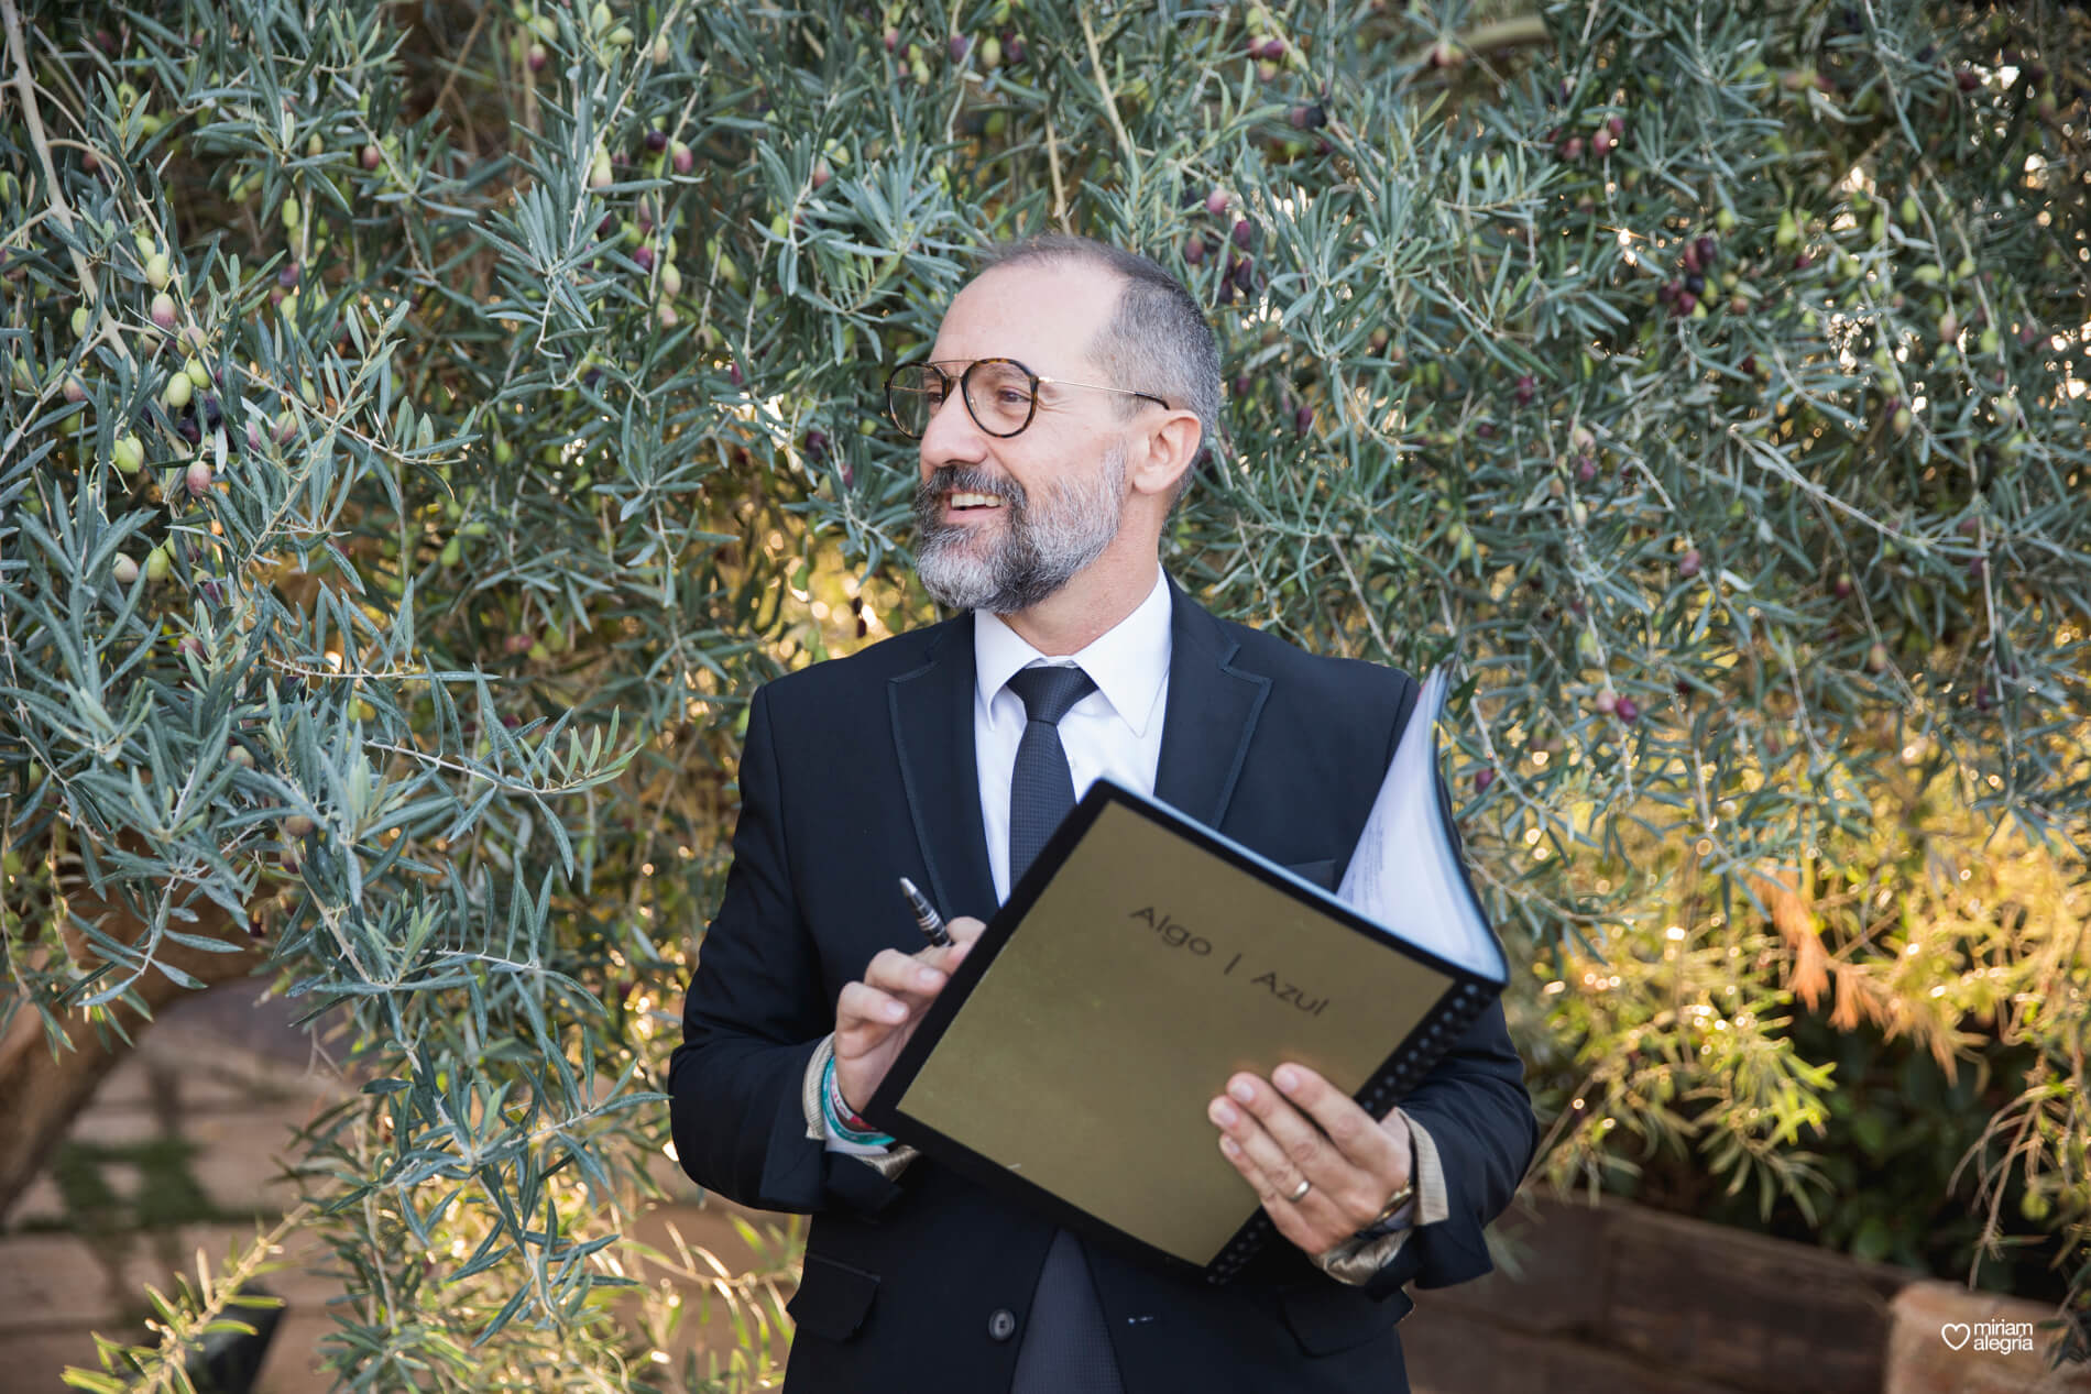
[[[953,491],[1002,497],[1004,527],[993,541],[981,543],[974,529],[939,520],[943,495]],[[953,610],[1014,614],[1054,596],[1119,535],[1125,447],[1112,447],[1094,479],[1054,489],[1035,514],[1014,479],[953,464],[918,483],[914,502],[922,589]]]

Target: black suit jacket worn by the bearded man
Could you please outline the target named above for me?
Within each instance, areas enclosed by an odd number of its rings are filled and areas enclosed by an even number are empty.
[[[1416,681],[1223,623],[1173,581],[1171,606],[1156,796],[1334,886]],[[698,1185],[813,1214],[788,1390],[1008,1390],[1052,1241],[1050,1223],[928,1158],[889,1183],[826,1152],[801,1110],[843,984],[880,949],[920,949],[895,878],[945,915],[995,911],[972,700],[964,614],[767,683],[749,711],[734,865],[669,1091],[675,1154]],[[1537,1143],[1522,1078],[1491,1007],[1403,1101],[1437,1141],[1451,1218],[1418,1229],[1365,1287],[1282,1237],[1227,1287],[1085,1246],[1127,1394],[1405,1390],[1401,1287],[1491,1269],[1483,1225]]]

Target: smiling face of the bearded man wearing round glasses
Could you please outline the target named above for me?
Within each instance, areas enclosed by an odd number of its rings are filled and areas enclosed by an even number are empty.
[[[1048,382],[1031,424],[993,437],[972,420],[956,382],[983,357],[1104,382],[1087,347],[1117,299],[1110,272],[1046,263],[997,268],[951,301],[930,362],[951,374],[953,391],[922,433],[916,485],[916,571],[941,604],[1029,610],[1119,535],[1125,439],[1110,393]]]

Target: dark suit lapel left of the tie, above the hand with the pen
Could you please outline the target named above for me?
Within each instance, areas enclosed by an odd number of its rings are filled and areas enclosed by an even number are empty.
[[[945,913],[995,913],[972,752],[972,614],[943,627],[922,667],[887,681],[893,748],[930,901]]]

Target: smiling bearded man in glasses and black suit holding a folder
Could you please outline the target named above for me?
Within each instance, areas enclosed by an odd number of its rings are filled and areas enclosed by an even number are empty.
[[[1219,355],[1152,261],[997,249],[889,410],[920,439],[922,583],[960,614],[755,694],[669,1074],[692,1179],[813,1214],[786,1388],[1405,1390],[1401,1290],[1489,1271],[1483,1227],[1537,1143],[1499,1005],[1386,1118],[1299,1066],[1186,1101],[1288,1239],[1225,1287],[1077,1241],[855,1114],[1089,780],[1334,886],[1418,692],[1221,623],[1161,571]],[[922,947],[899,876],[958,943]]]

